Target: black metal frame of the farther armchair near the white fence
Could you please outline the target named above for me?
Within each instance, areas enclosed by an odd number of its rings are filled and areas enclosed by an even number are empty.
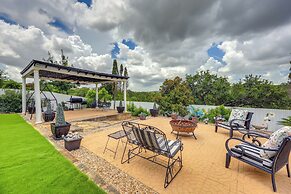
[[[240,131],[243,128],[244,130],[246,130],[248,132],[250,130],[251,120],[252,120],[253,114],[254,114],[253,112],[248,112],[246,119],[232,119],[229,122],[229,125],[227,125],[227,127],[229,127],[229,129],[225,128],[223,126],[218,126],[219,122],[217,120],[215,120],[215,133],[217,133],[218,127],[229,130],[229,137],[230,138],[233,137],[233,131]],[[244,122],[244,126],[238,124],[238,121]]]

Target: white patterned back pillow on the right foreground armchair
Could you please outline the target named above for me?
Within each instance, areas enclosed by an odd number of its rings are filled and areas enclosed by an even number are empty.
[[[283,140],[290,135],[291,127],[288,126],[282,127],[281,129],[272,133],[270,138],[262,145],[262,147],[268,149],[278,149],[283,143]],[[277,153],[276,151],[261,150],[260,155],[262,158],[268,159],[274,157],[276,153]]]

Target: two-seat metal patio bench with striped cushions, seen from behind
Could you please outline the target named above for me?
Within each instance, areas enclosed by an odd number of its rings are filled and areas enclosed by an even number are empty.
[[[166,188],[182,169],[182,142],[179,139],[175,141],[167,140],[166,135],[161,130],[153,126],[125,121],[122,123],[122,127],[127,135],[127,142],[122,155],[121,163],[129,163],[130,159],[135,156],[139,156],[165,167],[166,176],[164,180],[164,188]],[[128,144],[132,146],[131,148],[129,147],[127,159],[124,161],[124,155]],[[148,152],[146,152],[147,154],[145,156],[145,154],[142,153],[143,150],[145,152],[147,150],[150,151],[150,156]],[[157,156],[166,157],[167,163],[165,164],[158,161]],[[176,163],[178,168],[174,168]]]

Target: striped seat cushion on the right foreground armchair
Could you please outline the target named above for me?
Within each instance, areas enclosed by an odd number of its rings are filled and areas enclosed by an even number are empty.
[[[246,143],[241,143],[239,144],[243,149],[244,149],[244,155],[241,157],[242,159],[255,163],[259,166],[265,166],[265,167],[272,167],[273,165],[273,160],[272,158],[267,159],[267,158],[263,158],[260,155],[260,151],[262,149],[256,148],[254,146],[251,146],[249,144]],[[231,148],[231,151],[238,153],[238,154],[242,154],[242,150],[236,146],[234,148]]]

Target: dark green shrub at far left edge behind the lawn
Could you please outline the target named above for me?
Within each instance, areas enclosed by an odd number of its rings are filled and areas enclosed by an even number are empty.
[[[21,112],[22,109],[21,93],[14,90],[6,90],[5,94],[0,96],[0,112]]]

